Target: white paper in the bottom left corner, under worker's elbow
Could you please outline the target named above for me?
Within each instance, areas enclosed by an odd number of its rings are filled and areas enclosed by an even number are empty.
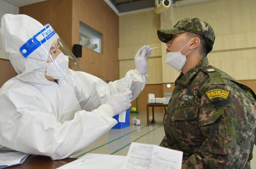
[[[28,156],[29,154],[23,152],[0,153],[0,169],[22,164]]]

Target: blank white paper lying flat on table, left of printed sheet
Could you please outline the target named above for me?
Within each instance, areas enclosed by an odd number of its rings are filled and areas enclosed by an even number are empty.
[[[57,169],[121,169],[125,160],[126,156],[87,153],[81,158]],[[77,166],[82,161],[85,161],[85,164]]]

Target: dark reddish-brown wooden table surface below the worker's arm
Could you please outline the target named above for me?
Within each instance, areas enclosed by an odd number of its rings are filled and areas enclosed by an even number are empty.
[[[55,169],[75,161],[77,158],[52,160],[48,156],[30,155],[22,164],[7,167],[6,169]]]

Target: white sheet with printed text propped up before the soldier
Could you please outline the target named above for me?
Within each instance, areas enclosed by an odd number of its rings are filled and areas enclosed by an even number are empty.
[[[132,142],[123,169],[181,169],[182,151]]]

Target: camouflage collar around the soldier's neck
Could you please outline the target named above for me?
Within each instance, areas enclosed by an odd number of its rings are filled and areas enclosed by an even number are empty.
[[[208,65],[208,64],[209,64],[208,58],[204,57],[202,60],[200,60],[200,62],[198,62],[196,66],[188,70],[188,72],[185,75],[183,75],[183,73],[181,72],[180,76],[178,76],[178,78],[175,80],[175,86],[180,85],[180,86],[186,87],[188,85],[188,82],[191,80],[191,78],[195,74],[197,74],[197,72],[202,68],[202,66]]]

